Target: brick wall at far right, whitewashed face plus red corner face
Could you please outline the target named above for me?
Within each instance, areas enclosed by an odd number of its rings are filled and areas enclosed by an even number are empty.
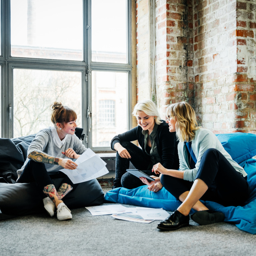
[[[194,5],[195,109],[199,123],[215,133],[255,130],[255,84],[246,63],[248,38],[255,41],[249,18],[255,17],[248,2]]]

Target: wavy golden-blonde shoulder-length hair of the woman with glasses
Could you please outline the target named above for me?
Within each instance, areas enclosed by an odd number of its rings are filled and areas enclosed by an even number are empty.
[[[190,104],[187,102],[178,102],[169,105],[166,109],[166,115],[177,119],[176,134],[180,141],[192,141],[195,138],[195,130],[197,126],[196,113]]]

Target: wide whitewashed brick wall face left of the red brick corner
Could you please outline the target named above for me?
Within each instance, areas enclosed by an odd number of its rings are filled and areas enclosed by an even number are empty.
[[[230,92],[236,72],[236,1],[195,1],[195,110],[199,124],[215,132],[233,128]],[[233,97],[234,96],[234,97]],[[225,131],[226,132],[226,131]]]

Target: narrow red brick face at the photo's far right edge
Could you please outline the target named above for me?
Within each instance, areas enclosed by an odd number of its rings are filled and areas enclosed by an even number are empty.
[[[237,1],[237,71],[230,88],[236,100],[235,130],[256,133],[256,4]]]

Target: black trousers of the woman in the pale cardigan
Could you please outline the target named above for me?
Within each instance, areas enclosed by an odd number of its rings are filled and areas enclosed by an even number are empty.
[[[213,201],[224,206],[238,206],[244,205],[250,194],[247,177],[237,172],[214,148],[204,152],[195,179],[203,180],[208,186],[208,190],[200,198],[204,201]],[[161,183],[177,199],[193,185],[193,182],[169,175],[162,175]]]

